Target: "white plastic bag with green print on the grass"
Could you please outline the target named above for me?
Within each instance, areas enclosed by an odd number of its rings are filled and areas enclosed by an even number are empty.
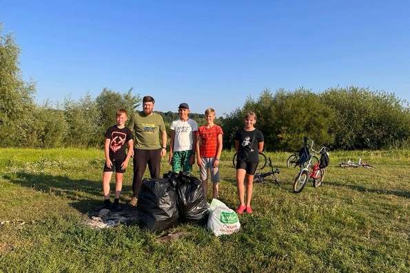
[[[214,232],[215,236],[232,234],[240,228],[238,215],[236,215],[234,210],[223,204],[223,202],[218,199],[212,199],[211,206],[209,207],[207,228]]]

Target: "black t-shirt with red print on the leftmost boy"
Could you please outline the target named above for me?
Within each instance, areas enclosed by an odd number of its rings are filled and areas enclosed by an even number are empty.
[[[119,129],[114,125],[107,129],[105,138],[110,139],[110,160],[124,160],[127,157],[125,148],[128,141],[132,140],[132,131],[127,127]]]

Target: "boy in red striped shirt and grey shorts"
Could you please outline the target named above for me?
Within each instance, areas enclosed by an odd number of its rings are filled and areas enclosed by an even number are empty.
[[[222,152],[222,128],[214,124],[215,110],[208,108],[205,110],[206,125],[196,131],[196,163],[199,167],[203,190],[207,196],[207,171],[211,174],[212,198],[218,197],[218,185],[221,176],[219,175],[219,162]]]

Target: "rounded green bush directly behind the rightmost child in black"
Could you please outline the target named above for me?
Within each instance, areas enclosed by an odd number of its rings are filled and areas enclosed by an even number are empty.
[[[295,151],[305,135],[316,144],[333,142],[330,124],[334,111],[324,105],[318,95],[303,88],[279,89],[275,94],[265,89],[258,99],[247,98],[242,109],[223,119],[225,147],[232,145],[234,133],[243,127],[243,117],[248,111],[256,113],[256,128],[263,132],[268,151]]]

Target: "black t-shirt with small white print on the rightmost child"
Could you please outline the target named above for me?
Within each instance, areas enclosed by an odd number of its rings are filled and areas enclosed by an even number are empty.
[[[252,142],[253,138],[254,142]],[[239,142],[238,160],[258,162],[258,143],[263,142],[263,134],[261,131],[258,129],[254,129],[254,131],[240,129],[235,134],[235,140]]]

